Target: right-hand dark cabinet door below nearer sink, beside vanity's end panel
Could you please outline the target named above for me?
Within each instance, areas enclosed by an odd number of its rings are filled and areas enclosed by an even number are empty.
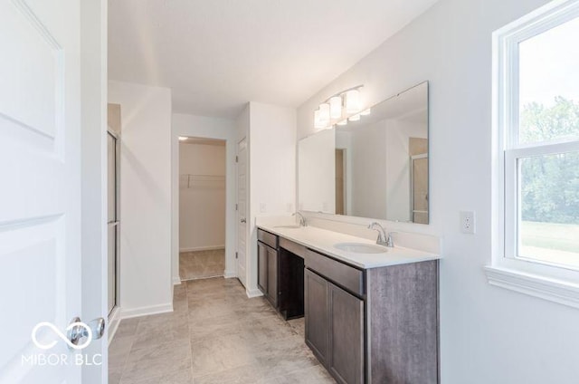
[[[328,285],[328,369],[339,383],[364,382],[364,302]]]

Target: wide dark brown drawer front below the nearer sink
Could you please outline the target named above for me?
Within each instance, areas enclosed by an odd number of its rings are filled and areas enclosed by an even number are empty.
[[[305,264],[312,271],[327,277],[350,292],[360,296],[365,294],[363,271],[309,249],[306,250]]]

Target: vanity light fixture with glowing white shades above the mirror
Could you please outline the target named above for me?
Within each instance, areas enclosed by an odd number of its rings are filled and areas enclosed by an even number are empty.
[[[370,114],[370,109],[362,110],[360,88],[363,85],[341,91],[319,104],[314,111],[314,127],[318,130],[331,129],[336,125],[346,125],[347,121],[360,120],[361,115]]]

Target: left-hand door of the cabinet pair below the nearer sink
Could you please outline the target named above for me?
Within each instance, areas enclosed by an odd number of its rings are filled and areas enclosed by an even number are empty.
[[[306,344],[327,365],[327,280],[308,269],[304,272]]]

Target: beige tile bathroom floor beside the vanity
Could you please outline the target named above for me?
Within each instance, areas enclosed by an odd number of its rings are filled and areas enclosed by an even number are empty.
[[[174,312],[121,322],[109,347],[111,384],[334,383],[285,322],[236,279],[175,287]]]

